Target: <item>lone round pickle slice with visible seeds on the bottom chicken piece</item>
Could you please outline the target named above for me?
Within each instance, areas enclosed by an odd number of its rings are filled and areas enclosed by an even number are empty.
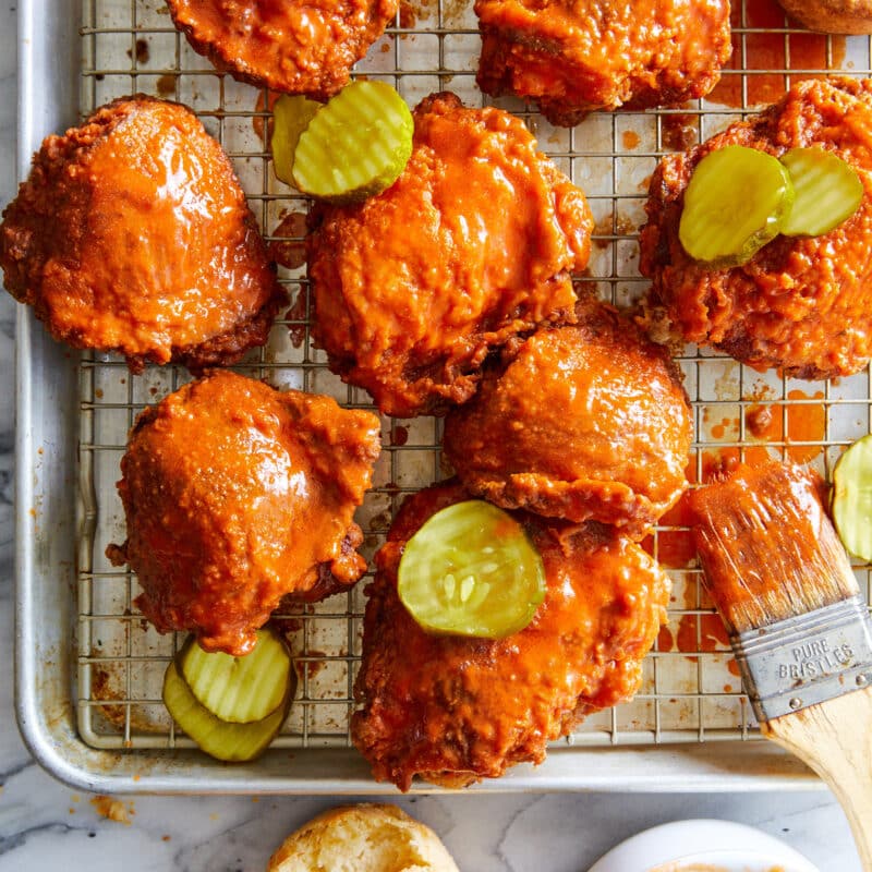
[[[428,632],[502,639],[533,619],[545,568],[510,514],[465,500],[428,518],[405,544],[398,593]]]

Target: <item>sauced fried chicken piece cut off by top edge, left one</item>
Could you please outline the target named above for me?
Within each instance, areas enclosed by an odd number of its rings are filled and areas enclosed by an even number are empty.
[[[233,78],[327,99],[397,14],[397,0],[167,0],[194,51]]]

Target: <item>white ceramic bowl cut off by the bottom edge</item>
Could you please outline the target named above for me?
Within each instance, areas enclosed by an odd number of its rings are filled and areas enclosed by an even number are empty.
[[[590,872],[820,872],[801,853],[743,824],[676,821],[613,848]]]

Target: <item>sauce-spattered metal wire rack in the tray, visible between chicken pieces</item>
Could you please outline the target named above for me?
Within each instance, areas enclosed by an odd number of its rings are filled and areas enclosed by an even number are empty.
[[[588,194],[596,219],[593,256],[580,281],[618,305],[639,299],[646,282],[638,271],[638,228],[643,221],[646,180],[656,160],[680,137],[700,142],[753,107],[750,97],[763,76],[796,76],[837,69],[870,74],[864,38],[821,40],[824,62],[799,66],[794,40],[810,37],[784,24],[754,26],[761,3],[744,0],[736,27],[738,106],[714,99],[676,110],[594,113],[578,128],[554,128],[523,104],[486,100],[475,88],[479,37],[471,3],[425,0],[403,5],[395,26],[370,51],[358,71],[395,84],[410,104],[450,88],[468,105],[496,102],[522,116],[541,148]],[[773,4],[766,0],[762,5]],[[81,109],[85,116],[114,97],[149,93],[193,108],[234,162],[252,208],[269,241],[292,247],[302,226],[277,227],[305,211],[305,199],[275,179],[257,129],[269,116],[270,95],[215,72],[175,32],[161,0],[84,0]],[[782,44],[780,64],[755,65],[755,41]],[[776,43],[773,43],[773,39]],[[279,319],[268,344],[250,355],[240,372],[276,387],[334,396],[342,404],[371,408],[364,391],[342,385],[313,348],[307,286],[302,269],[280,277],[293,305]],[[843,448],[870,431],[870,372],[839,382],[804,383],[761,375],[720,355],[688,347],[678,359],[693,400],[697,441],[691,472],[705,471],[729,452],[744,457],[765,450],[808,460],[828,474]],[[114,491],[126,432],[136,414],[189,378],[177,367],[149,367],[130,376],[119,360],[87,354],[80,370],[80,487],[77,711],[83,739],[95,748],[172,748],[192,743],[177,732],[160,701],[167,664],[181,637],[161,637],[133,606],[135,579],[113,569],[104,556],[110,542],[124,538],[123,512]],[[759,423],[765,419],[765,434]],[[756,423],[754,423],[756,422]],[[810,423],[811,422],[811,423]],[[376,487],[359,514],[371,556],[384,541],[392,512],[408,493],[444,477],[435,419],[383,419],[384,452]],[[669,520],[667,518],[667,520]],[[650,544],[655,556],[683,554],[687,529],[680,518],[657,528]],[[680,560],[679,560],[680,562]],[[858,568],[869,586],[868,569]],[[576,744],[651,744],[749,739],[753,716],[740,692],[719,619],[688,562],[673,569],[670,622],[644,664],[642,691],[629,704],[591,716],[568,737]],[[335,747],[350,743],[348,720],[360,657],[365,580],[348,594],[301,606],[280,620],[291,630],[300,686],[276,747]]]

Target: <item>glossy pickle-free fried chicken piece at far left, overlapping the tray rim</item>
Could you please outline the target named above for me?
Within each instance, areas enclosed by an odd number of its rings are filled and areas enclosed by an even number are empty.
[[[51,335],[198,371],[263,344],[286,294],[218,143],[136,96],[49,136],[0,225],[5,286]]]

